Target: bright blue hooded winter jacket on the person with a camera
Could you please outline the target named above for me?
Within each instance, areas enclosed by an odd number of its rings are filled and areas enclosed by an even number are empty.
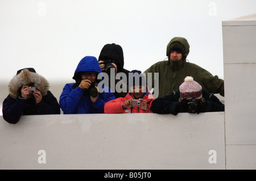
[[[86,56],[82,58],[77,65],[73,79],[79,77],[81,71],[101,73],[100,66],[96,57]],[[104,87],[102,93],[99,92],[96,102],[90,100],[90,94],[84,94],[80,87],[73,89],[75,83],[67,83],[60,95],[60,108],[64,113],[104,113],[104,105],[109,100],[115,99],[115,96],[109,87]]]

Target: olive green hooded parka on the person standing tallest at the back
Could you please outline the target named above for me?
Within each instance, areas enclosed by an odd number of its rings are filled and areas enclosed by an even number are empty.
[[[181,60],[172,61],[170,59],[172,48],[180,48],[183,50]],[[217,75],[213,76],[209,71],[196,64],[187,62],[186,58],[188,53],[188,41],[183,37],[174,37],[167,45],[166,55],[168,56],[168,60],[157,62],[144,71],[146,77],[147,73],[152,73],[152,88],[154,88],[154,81],[156,81],[154,73],[159,73],[159,92],[154,92],[154,98],[162,98],[163,96],[171,94],[172,91],[178,90],[181,83],[184,82],[184,78],[187,76],[192,76],[203,89],[213,92],[214,94],[220,93],[220,95],[224,96],[224,80],[218,78]],[[148,81],[148,79],[146,80]]]

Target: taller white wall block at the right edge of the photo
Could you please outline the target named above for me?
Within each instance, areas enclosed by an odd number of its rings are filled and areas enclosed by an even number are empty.
[[[226,169],[256,169],[256,14],[222,22]]]

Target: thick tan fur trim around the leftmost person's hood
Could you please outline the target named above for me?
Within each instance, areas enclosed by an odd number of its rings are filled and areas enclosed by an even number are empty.
[[[9,83],[9,94],[14,98],[18,98],[19,91],[22,86],[34,83],[37,90],[42,95],[46,95],[49,90],[49,82],[38,73],[31,72],[27,69],[22,70],[18,75],[15,75]]]

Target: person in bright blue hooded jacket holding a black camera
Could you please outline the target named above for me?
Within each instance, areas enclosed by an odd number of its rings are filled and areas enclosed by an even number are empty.
[[[60,95],[63,113],[104,113],[105,103],[115,96],[109,87],[97,87],[98,74],[101,74],[101,69],[97,58],[82,58],[73,76],[76,83],[67,83]]]

